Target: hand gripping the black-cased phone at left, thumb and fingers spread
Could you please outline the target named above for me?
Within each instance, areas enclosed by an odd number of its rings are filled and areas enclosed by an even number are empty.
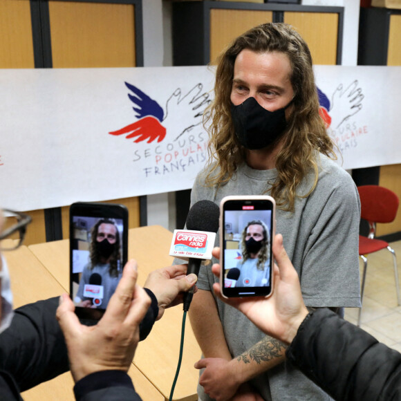
[[[60,297],[57,319],[68,348],[75,382],[97,371],[128,371],[139,342],[139,324],[151,299],[136,285],[136,261],[129,261],[106,312],[96,326],[84,326],[75,315],[73,301]]]

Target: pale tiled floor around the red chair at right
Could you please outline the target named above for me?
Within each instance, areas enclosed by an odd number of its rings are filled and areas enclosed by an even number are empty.
[[[401,241],[390,245],[398,257],[398,276],[401,281]],[[367,259],[361,328],[401,352],[401,306],[397,305],[393,256],[385,249],[367,255]],[[360,260],[361,279],[362,265]],[[357,317],[357,308],[346,308],[346,320],[357,324]]]

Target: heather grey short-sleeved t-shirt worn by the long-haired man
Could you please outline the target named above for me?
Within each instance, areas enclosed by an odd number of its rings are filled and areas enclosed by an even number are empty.
[[[219,205],[227,195],[269,194],[277,170],[254,170],[243,163],[235,176],[218,188],[205,186],[206,174],[203,170],[196,177],[192,205],[203,199]],[[308,174],[297,188],[297,194],[308,194],[313,180],[314,174]],[[319,179],[314,191],[304,198],[296,198],[294,212],[277,209],[276,221],[276,231],[283,234],[284,247],[299,274],[306,306],[359,307],[360,201],[351,176],[333,160],[320,155]],[[217,281],[210,266],[201,267],[197,286],[202,290],[212,291],[212,284]],[[241,312],[219,299],[216,301],[233,357],[265,337]],[[252,384],[265,400],[330,400],[287,362],[259,375]],[[201,386],[198,394],[201,400],[210,400]]]

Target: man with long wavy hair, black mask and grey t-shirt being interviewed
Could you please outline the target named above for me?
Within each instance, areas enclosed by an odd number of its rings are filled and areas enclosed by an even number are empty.
[[[281,23],[245,32],[218,59],[214,95],[205,114],[209,162],[196,178],[192,204],[273,196],[277,232],[306,306],[359,307],[359,198],[351,176],[333,160],[304,39]],[[214,297],[214,281],[210,269],[201,269],[189,310],[204,356],[196,363],[205,369],[199,399],[328,400],[286,363],[284,344]]]

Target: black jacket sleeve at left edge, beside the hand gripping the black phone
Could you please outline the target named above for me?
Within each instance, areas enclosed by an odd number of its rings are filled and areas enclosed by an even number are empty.
[[[0,335],[0,370],[14,377],[20,391],[69,370],[58,305],[55,297],[17,308],[11,326]]]

